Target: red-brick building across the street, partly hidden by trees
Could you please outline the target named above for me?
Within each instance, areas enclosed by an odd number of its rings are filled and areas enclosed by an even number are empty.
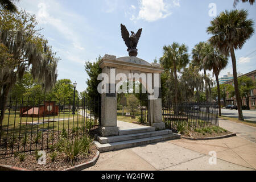
[[[243,76],[251,77],[251,79],[253,81],[256,81],[256,69],[252,72],[246,73]],[[242,76],[240,76],[240,77],[242,77]],[[240,78],[240,77],[238,77],[238,78]],[[230,85],[234,86],[234,80],[226,81],[224,84],[230,84]],[[232,104],[232,105],[237,105],[236,97],[227,98],[226,103]],[[250,109],[256,109],[255,104],[256,104],[256,89],[253,89],[253,90],[251,90],[251,97],[250,97],[250,102],[249,102]],[[242,98],[242,105],[246,105],[245,98]]]

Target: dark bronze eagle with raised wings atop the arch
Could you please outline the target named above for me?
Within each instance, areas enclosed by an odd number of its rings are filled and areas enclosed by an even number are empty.
[[[142,32],[142,28],[139,29],[136,34],[133,31],[131,31],[131,36],[130,36],[127,28],[123,24],[121,24],[121,34],[122,34],[123,41],[125,41],[125,44],[128,47],[127,51],[129,52],[129,56],[136,57],[138,55],[137,45],[139,42],[139,38],[141,38],[141,32]]]

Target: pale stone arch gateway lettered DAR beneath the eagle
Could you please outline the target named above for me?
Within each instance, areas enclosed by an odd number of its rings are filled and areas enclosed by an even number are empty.
[[[114,76],[114,80],[110,81],[110,85],[117,84],[119,81],[115,80],[115,76],[119,73],[123,73],[129,78],[129,73],[152,73],[158,74],[160,87],[160,74],[163,72],[163,68],[160,68],[159,64],[148,63],[138,57],[119,57],[112,55],[105,55],[100,62],[102,73],[105,73],[109,78]],[[114,71],[114,75],[112,75]],[[153,77],[154,78],[154,77]],[[124,81],[124,80],[123,80]],[[148,89],[147,83],[140,80],[143,86]],[[153,80],[154,86],[154,80]],[[158,88],[155,88],[158,90]],[[157,130],[164,130],[165,124],[162,122],[162,98],[158,97],[154,100],[150,100],[150,121],[151,126],[156,127]],[[119,135],[117,127],[117,94],[116,93],[104,93],[101,95],[101,126],[100,134],[102,137],[109,137]]]

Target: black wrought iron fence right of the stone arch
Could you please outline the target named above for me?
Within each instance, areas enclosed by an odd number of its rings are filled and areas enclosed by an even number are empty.
[[[218,105],[209,102],[188,102],[175,105],[172,102],[163,104],[163,121],[166,128],[177,132],[179,125],[199,129],[218,126]]]

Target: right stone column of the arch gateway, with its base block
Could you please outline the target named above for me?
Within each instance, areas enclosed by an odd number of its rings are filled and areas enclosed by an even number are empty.
[[[154,79],[153,79],[154,81]],[[154,82],[153,82],[154,83]],[[154,122],[153,122],[153,127],[156,128],[156,130],[165,130],[166,129],[166,125],[165,123],[162,121],[162,90],[161,90],[161,76],[159,74],[159,88],[156,87],[154,85],[155,88],[155,94],[158,93],[158,98],[156,100],[152,100],[153,102],[153,118],[154,118]]]

